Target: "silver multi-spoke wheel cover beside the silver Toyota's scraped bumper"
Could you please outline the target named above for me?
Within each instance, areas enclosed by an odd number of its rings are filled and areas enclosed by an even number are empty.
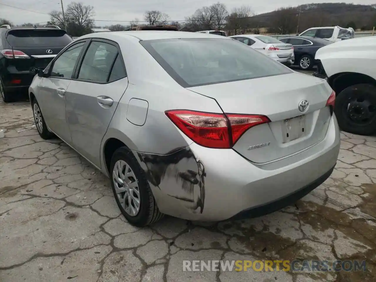
[[[138,181],[132,168],[123,160],[115,163],[112,171],[115,192],[124,211],[134,217],[140,209],[140,193]]]

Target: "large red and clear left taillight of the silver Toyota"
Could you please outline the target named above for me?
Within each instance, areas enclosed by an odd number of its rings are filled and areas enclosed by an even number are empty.
[[[270,122],[263,115],[224,115],[188,110],[171,110],[165,114],[197,144],[218,149],[231,148],[248,129]]]

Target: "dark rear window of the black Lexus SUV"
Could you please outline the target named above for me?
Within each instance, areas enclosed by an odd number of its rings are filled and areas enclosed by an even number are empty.
[[[15,29],[8,32],[7,40],[14,47],[64,47],[73,41],[65,30],[61,29]]]

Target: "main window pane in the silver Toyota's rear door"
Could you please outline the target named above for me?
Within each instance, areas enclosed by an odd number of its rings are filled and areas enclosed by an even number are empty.
[[[117,47],[106,42],[92,41],[83,58],[78,79],[107,82]]]

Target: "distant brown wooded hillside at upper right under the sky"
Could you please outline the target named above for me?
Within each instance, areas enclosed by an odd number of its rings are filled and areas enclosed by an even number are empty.
[[[300,17],[298,17],[300,11]],[[299,32],[316,26],[351,26],[354,29],[370,30],[376,26],[376,4],[354,5],[347,3],[311,3],[297,7],[281,8],[252,17],[253,27],[267,27],[274,32],[281,30]]]

